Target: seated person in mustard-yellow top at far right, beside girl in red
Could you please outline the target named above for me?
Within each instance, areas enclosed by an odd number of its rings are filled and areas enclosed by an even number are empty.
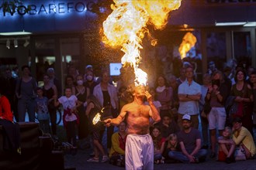
[[[234,118],[232,131],[235,144],[244,148],[247,159],[253,158],[256,154],[254,138],[252,138],[251,132],[242,126],[240,117]]]

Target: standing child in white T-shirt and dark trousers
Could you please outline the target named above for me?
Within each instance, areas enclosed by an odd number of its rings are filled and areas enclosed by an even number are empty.
[[[66,87],[65,95],[60,97],[58,100],[57,98],[54,99],[55,107],[60,104],[62,104],[64,108],[63,123],[64,128],[66,128],[67,141],[76,147],[76,137],[79,124],[78,114],[76,112],[77,107],[81,105],[81,102],[78,101],[76,96],[72,95],[71,87]]]

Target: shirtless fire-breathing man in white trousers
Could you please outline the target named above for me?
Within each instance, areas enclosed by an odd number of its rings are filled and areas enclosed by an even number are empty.
[[[154,145],[149,120],[151,117],[158,122],[161,118],[145,87],[135,87],[133,97],[133,102],[124,105],[118,117],[106,119],[105,123],[106,126],[118,125],[126,118],[126,169],[154,169]],[[147,97],[149,106],[144,104],[144,97]]]

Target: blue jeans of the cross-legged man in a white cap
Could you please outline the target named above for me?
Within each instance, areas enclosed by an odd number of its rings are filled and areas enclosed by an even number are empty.
[[[192,153],[192,151],[188,151],[188,153]],[[206,155],[207,155],[207,150],[200,149],[194,156],[201,159],[201,158],[206,158]],[[180,162],[189,163],[189,158],[186,157],[182,153],[182,151],[169,151],[168,156],[169,156],[169,158],[173,158]]]

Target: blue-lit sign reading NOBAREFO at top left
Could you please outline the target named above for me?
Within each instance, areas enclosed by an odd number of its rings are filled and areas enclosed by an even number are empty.
[[[59,2],[59,3],[48,3],[48,4],[28,4],[24,5],[13,5],[9,4],[2,6],[0,12],[3,16],[6,15],[51,15],[51,14],[65,14],[70,12],[95,12],[94,7],[99,8],[99,12],[105,12],[104,8],[100,8],[95,2]]]

